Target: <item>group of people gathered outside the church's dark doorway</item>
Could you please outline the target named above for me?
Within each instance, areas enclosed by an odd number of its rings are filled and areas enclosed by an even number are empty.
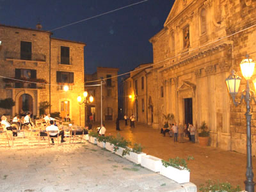
[[[183,143],[184,142],[184,134],[185,136],[188,136],[189,141],[192,143],[195,143],[195,127],[193,124],[179,124],[179,126],[174,123],[174,124],[167,124],[167,126],[164,126],[161,129],[161,134],[165,136],[165,134],[168,133],[170,137],[173,136],[174,142],[178,141],[178,135],[179,135],[179,142]]]

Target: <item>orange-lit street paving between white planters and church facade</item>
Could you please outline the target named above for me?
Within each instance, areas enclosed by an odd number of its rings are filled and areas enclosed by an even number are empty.
[[[93,127],[95,127],[94,125]],[[106,122],[107,132],[116,135],[115,123]],[[188,162],[191,170],[190,181],[199,186],[209,179],[230,182],[244,189],[246,180],[246,155],[237,152],[220,150],[214,147],[201,147],[198,143],[177,143],[169,136],[163,137],[159,129],[152,129],[145,124],[136,123],[135,128],[124,125],[120,120],[120,134],[132,142],[141,143],[145,148],[143,152],[161,159],[174,157],[186,158],[193,156],[195,159]],[[253,168],[256,158],[253,157]],[[253,173],[256,174],[255,169]],[[256,179],[254,179],[255,181]]]

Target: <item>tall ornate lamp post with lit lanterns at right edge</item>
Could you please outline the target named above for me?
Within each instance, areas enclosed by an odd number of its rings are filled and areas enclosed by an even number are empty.
[[[241,77],[236,76],[235,71],[232,70],[231,75],[227,77],[226,83],[228,87],[228,92],[232,96],[233,102],[235,106],[241,104],[241,102],[246,102],[246,154],[247,154],[247,164],[246,164],[246,180],[244,181],[245,184],[245,190],[248,192],[254,192],[254,185],[255,182],[253,182],[253,172],[252,172],[252,136],[251,136],[251,119],[252,119],[252,113],[250,113],[250,101],[253,99],[256,103],[254,92],[250,90],[249,86],[249,80],[252,77],[253,70],[254,70],[255,63],[252,59],[249,59],[249,56],[246,55],[246,59],[241,61],[240,67],[242,74],[244,76],[244,79],[246,79],[246,90],[243,90],[241,95],[241,100],[239,102],[236,102],[236,95],[239,90],[239,85],[241,82]],[[256,89],[256,82],[253,81],[253,84]]]

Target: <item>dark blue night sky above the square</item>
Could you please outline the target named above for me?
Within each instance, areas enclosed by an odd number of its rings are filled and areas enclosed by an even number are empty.
[[[0,0],[0,24],[45,31],[142,0]],[[148,0],[52,31],[53,37],[84,42],[84,67],[117,67],[118,74],[153,61],[148,40],[163,29],[174,0]]]

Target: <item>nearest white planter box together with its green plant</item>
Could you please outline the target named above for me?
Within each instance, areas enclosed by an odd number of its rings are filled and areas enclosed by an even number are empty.
[[[188,157],[187,160],[194,159]],[[190,171],[185,159],[176,157],[174,159],[168,159],[168,161],[162,160],[161,175],[174,180],[175,182],[184,183],[189,182]]]

